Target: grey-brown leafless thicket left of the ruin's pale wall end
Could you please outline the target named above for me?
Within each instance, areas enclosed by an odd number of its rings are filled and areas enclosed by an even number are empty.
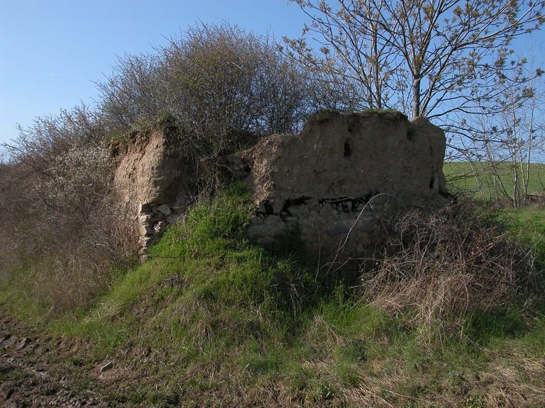
[[[87,305],[126,260],[104,140],[94,113],[62,111],[21,130],[0,165],[0,280],[55,312]]]

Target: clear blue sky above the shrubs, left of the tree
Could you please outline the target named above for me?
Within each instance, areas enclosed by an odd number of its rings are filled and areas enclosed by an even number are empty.
[[[117,55],[153,52],[197,20],[280,39],[305,16],[287,0],[0,0],[0,143],[17,124],[92,104]]]

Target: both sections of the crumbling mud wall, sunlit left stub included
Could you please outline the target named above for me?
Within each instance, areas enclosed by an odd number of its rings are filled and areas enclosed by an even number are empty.
[[[258,203],[249,239],[274,244],[294,231],[324,261],[343,261],[380,241],[385,217],[448,203],[445,145],[444,132],[425,118],[319,111],[298,135],[265,137],[224,164]],[[123,146],[115,186],[143,255],[184,214],[192,169],[160,130]]]

